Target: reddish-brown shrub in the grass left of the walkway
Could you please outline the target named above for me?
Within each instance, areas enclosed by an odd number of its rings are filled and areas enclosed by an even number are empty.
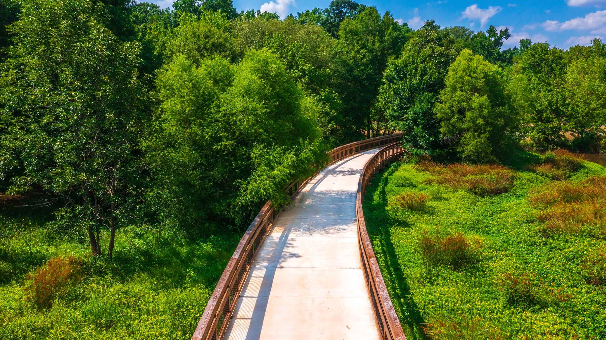
[[[40,308],[50,307],[55,296],[61,294],[81,275],[82,261],[74,257],[55,257],[25,278],[25,298]]]

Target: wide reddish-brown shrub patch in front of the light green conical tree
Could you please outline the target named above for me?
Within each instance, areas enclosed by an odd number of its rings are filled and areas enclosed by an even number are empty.
[[[454,190],[468,190],[476,195],[495,195],[513,186],[513,171],[501,165],[451,164],[435,181]]]

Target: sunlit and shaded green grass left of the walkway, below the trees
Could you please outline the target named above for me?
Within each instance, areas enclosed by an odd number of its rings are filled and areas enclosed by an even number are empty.
[[[12,267],[0,280],[0,339],[189,339],[239,235],[116,235],[115,258],[96,261],[84,242],[57,236],[50,211],[0,210],[0,261]],[[84,258],[85,278],[38,310],[24,301],[25,275],[57,255]]]

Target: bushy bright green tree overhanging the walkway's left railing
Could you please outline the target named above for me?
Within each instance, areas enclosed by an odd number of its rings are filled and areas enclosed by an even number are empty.
[[[268,50],[250,50],[237,65],[179,55],[157,86],[150,198],[190,233],[244,223],[264,200],[284,203],[284,185],[321,159],[318,108]]]

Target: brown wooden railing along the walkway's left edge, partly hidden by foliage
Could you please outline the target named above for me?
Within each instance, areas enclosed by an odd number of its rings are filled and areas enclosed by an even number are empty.
[[[344,159],[352,154],[357,154],[358,152],[375,149],[382,145],[393,144],[400,140],[401,137],[402,134],[391,134],[339,146],[338,148],[327,152],[330,157],[330,162],[328,164],[330,165],[331,163],[335,163],[340,159]],[[312,175],[304,181],[292,181],[285,191],[290,197],[293,197],[299,192],[299,189],[305,186],[313,177],[315,177],[315,175]],[[219,279],[219,283],[217,283],[217,286],[215,287],[213,295],[210,296],[204,313],[202,313],[202,317],[200,318],[200,322],[198,322],[198,327],[196,327],[196,331],[191,337],[192,340],[218,340],[222,338],[225,329],[227,328],[227,324],[229,323],[229,319],[231,318],[231,313],[233,313],[233,309],[238,301],[240,290],[242,289],[242,286],[244,286],[244,281],[250,270],[255,253],[263,243],[265,236],[267,236],[267,232],[271,228],[271,223],[273,223],[273,220],[278,214],[279,211],[276,211],[273,204],[271,204],[271,201],[267,201],[263,208],[261,208],[259,214],[255,217],[255,220],[250,224],[240,240],[240,243],[238,243],[238,247],[236,247],[233,255],[231,255],[227,267],[225,267],[225,270]],[[364,230],[366,229],[364,228]],[[364,252],[361,250],[361,253]],[[379,275],[381,275],[380,272]],[[367,284],[368,283],[367,276]],[[383,284],[383,286],[385,286],[385,284]],[[371,288],[369,288],[369,290],[371,290]],[[385,290],[385,292],[387,291]],[[387,299],[390,301],[389,296],[387,296]],[[375,306],[375,302],[373,302],[373,306]],[[393,307],[391,307],[391,309],[393,310]],[[378,324],[381,324],[380,321],[377,322]]]

